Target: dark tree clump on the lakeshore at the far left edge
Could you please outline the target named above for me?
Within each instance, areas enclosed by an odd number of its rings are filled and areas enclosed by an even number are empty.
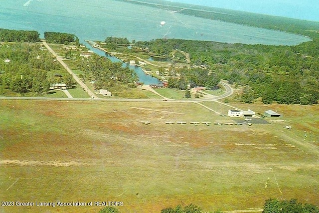
[[[40,34],[37,31],[12,30],[0,28],[0,41],[37,42]]]

